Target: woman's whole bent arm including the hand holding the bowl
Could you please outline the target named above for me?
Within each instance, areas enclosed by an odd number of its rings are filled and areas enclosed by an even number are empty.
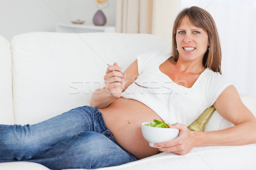
[[[242,103],[239,93],[233,85],[228,86],[213,106],[225,119],[235,126],[210,132],[193,132],[186,125],[176,123],[179,136],[169,142],[158,143],[160,151],[185,155],[196,146],[242,145],[256,143],[256,118]]]

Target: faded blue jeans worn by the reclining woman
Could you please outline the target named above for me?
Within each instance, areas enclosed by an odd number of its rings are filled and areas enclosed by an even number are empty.
[[[0,162],[52,169],[116,166],[138,160],[122,149],[96,108],[72,109],[35,125],[0,125]]]

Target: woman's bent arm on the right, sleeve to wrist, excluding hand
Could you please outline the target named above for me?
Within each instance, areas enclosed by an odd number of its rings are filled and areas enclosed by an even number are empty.
[[[198,146],[242,145],[256,143],[256,118],[242,103],[236,88],[227,87],[213,106],[235,126],[224,130],[195,133]]]

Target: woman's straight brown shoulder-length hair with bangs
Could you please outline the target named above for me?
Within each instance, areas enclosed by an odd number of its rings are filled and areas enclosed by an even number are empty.
[[[203,58],[203,65],[209,67],[212,71],[221,74],[221,44],[218,37],[218,31],[212,16],[202,8],[192,6],[184,8],[177,15],[172,31],[172,56],[175,61],[178,60],[176,32],[180,26],[181,20],[187,17],[189,22],[198,28],[202,28],[208,34],[209,49],[207,48]]]

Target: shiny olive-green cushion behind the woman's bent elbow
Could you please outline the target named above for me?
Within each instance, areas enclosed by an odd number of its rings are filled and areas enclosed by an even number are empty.
[[[206,109],[191,125],[188,126],[189,130],[196,132],[203,132],[205,124],[208,122],[212,113],[215,111],[213,106]]]

